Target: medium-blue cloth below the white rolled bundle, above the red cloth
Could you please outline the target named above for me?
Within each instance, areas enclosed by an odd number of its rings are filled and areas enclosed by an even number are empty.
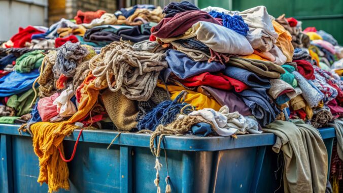
[[[218,72],[225,69],[225,65],[219,62],[194,61],[177,50],[169,49],[166,54],[165,60],[167,60],[169,68],[180,79],[186,79],[204,72]]]

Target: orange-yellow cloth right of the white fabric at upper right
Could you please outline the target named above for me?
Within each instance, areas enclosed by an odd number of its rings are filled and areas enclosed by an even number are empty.
[[[278,33],[279,35],[276,45],[286,56],[286,62],[291,62],[294,53],[294,47],[292,45],[292,35],[277,21],[273,20],[272,24],[276,33]]]

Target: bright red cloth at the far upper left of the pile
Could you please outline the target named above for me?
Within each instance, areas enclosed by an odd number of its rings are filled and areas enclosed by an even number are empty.
[[[13,42],[14,48],[25,47],[26,42],[31,42],[31,36],[33,34],[42,34],[44,31],[40,31],[32,26],[27,26],[26,28],[19,27],[19,32],[14,35],[10,40]]]

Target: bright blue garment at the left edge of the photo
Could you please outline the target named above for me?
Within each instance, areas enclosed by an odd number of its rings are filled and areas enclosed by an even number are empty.
[[[29,90],[38,76],[38,69],[34,69],[29,73],[9,73],[0,79],[0,97],[9,97]]]

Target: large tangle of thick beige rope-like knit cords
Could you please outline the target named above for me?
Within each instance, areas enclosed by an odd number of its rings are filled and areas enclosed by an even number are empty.
[[[130,100],[147,101],[156,87],[160,71],[167,68],[165,54],[134,51],[127,43],[113,42],[90,60],[95,77],[106,77],[111,91],[121,89]],[[111,77],[114,75],[115,86]]]

